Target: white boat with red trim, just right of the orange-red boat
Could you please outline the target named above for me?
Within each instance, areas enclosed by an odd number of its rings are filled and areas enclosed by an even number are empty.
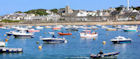
[[[95,38],[98,36],[98,33],[92,32],[90,30],[84,30],[80,33],[81,38]]]

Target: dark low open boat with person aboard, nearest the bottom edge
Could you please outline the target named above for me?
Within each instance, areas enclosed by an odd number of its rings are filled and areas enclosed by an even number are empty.
[[[96,55],[96,54],[91,54],[90,58],[96,59],[96,58],[109,58],[109,57],[115,57],[119,54],[120,52],[110,52],[110,53],[104,53],[103,55]]]

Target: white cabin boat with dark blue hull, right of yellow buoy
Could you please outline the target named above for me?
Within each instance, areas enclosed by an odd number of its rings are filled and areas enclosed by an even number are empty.
[[[111,42],[113,43],[130,43],[132,40],[130,38],[125,38],[123,36],[115,37],[114,39],[111,39]]]

